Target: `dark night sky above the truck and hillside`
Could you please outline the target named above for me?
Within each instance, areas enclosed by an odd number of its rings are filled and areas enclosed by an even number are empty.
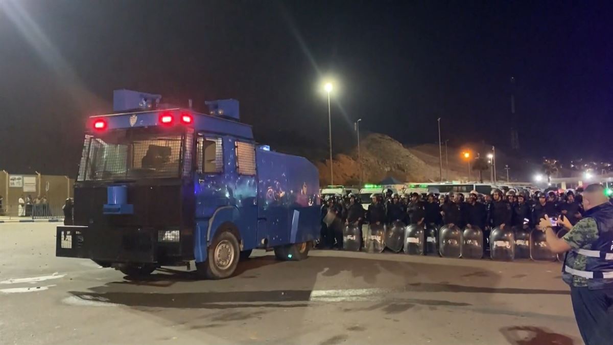
[[[0,1],[0,169],[77,171],[112,90],[196,109],[236,98],[273,145],[327,148],[353,125],[405,144],[613,158],[610,1]],[[516,79],[514,87],[510,77]],[[291,142],[290,142],[291,141]]]

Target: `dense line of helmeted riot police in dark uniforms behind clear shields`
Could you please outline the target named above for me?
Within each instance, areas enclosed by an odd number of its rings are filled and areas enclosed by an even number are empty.
[[[478,227],[483,230],[485,239],[495,227],[534,228],[544,215],[560,220],[567,217],[574,225],[584,212],[582,192],[581,187],[565,192],[511,189],[504,193],[493,189],[491,194],[473,191],[465,198],[463,193],[398,195],[388,190],[385,195],[371,195],[366,210],[354,194],[327,196],[321,207],[320,246],[342,248],[343,225],[362,228],[362,224],[403,222],[433,227],[455,225],[461,229]]]

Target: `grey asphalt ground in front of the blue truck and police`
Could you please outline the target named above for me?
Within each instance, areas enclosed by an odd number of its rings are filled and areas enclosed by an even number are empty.
[[[313,250],[236,276],[145,281],[55,257],[55,224],[0,224],[0,344],[582,344],[559,263]]]

